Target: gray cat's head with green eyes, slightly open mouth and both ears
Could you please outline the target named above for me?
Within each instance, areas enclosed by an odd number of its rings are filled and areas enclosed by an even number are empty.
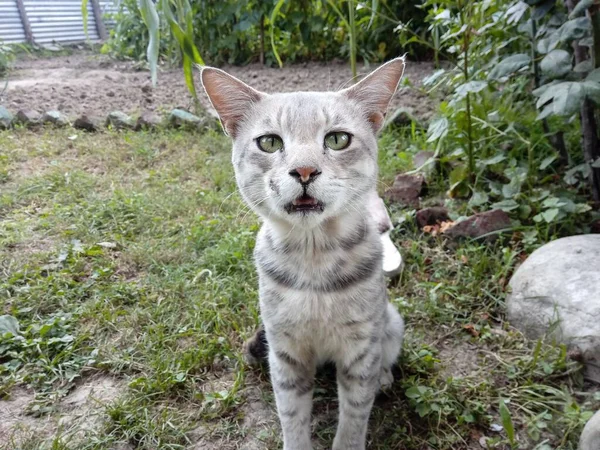
[[[246,202],[267,220],[301,228],[362,212],[377,178],[376,134],[403,70],[397,58],[341,91],[266,94],[204,68]]]

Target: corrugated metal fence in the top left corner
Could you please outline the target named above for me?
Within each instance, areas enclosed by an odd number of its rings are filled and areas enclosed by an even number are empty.
[[[107,14],[115,0],[88,1],[88,34],[83,29],[81,0],[0,0],[0,42],[83,42],[106,39],[113,25]]]

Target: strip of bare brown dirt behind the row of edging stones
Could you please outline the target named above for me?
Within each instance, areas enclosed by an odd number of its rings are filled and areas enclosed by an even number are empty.
[[[282,69],[259,64],[223,69],[265,92],[333,90],[347,85],[352,78],[349,65],[342,62],[297,64]],[[369,70],[359,67],[363,74]],[[408,62],[405,77],[414,88],[402,88],[392,107],[410,108],[417,117],[428,119],[434,104],[418,87],[432,70],[430,63]],[[199,95],[208,106],[201,91]],[[188,109],[192,98],[181,69],[163,68],[157,86],[152,87],[149,72],[140,70],[139,64],[77,51],[69,56],[19,60],[10,74],[8,88],[3,94],[0,91],[0,104],[13,112],[58,110],[74,118],[83,113],[105,116],[115,110],[141,114],[174,107]]]

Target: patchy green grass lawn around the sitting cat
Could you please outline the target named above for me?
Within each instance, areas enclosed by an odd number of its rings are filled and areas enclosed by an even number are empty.
[[[410,168],[404,143],[382,137],[382,184]],[[0,337],[0,397],[32,400],[30,429],[0,449],[277,448],[268,375],[241,357],[259,316],[259,224],[236,193],[229,141],[46,129],[2,132],[0,148],[0,314],[20,327]],[[406,268],[389,293],[408,334],[369,448],[575,449],[600,398],[566,349],[505,322],[522,244],[450,248],[411,212],[392,214]],[[59,422],[66,399],[101,379],[119,389],[92,407],[94,426]],[[325,373],[317,448],[336,410]]]

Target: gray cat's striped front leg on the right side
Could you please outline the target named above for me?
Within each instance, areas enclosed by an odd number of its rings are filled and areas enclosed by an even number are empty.
[[[381,344],[365,341],[337,364],[339,423],[333,450],[364,450],[381,374]]]

